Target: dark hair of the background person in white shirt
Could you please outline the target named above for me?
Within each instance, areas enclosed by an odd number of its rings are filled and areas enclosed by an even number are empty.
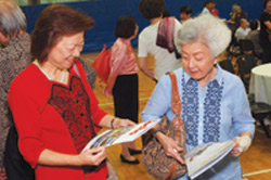
[[[164,0],[141,0],[139,3],[140,13],[146,20],[162,16],[164,9]]]

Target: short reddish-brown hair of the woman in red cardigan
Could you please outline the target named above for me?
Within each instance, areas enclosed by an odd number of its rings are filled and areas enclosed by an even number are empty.
[[[91,17],[68,5],[49,5],[40,13],[31,33],[31,53],[42,63],[62,37],[86,33],[93,25]]]

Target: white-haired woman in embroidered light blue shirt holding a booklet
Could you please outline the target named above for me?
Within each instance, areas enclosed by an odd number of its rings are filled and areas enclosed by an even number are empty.
[[[242,179],[238,156],[249,147],[255,131],[255,120],[241,79],[217,64],[219,54],[225,50],[230,40],[231,30],[227,25],[208,14],[185,22],[176,40],[181,49],[183,67],[173,73],[182,101],[186,151],[202,143],[235,142],[231,153],[197,180]],[[142,112],[143,121],[159,118],[164,114],[172,120],[170,101],[171,81],[165,75]],[[177,152],[182,150],[177,143],[160,131],[155,133],[166,154],[183,163]],[[188,176],[179,179],[188,179]]]

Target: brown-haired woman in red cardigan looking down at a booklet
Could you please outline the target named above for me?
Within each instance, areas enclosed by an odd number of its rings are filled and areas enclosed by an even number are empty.
[[[82,149],[95,136],[94,126],[133,125],[99,108],[76,60],[93,24],[67,5],[46,8],[31,34],[36,60],[11,85],[9,103],[20,151],[37,180],[106,179],[105,149]]]

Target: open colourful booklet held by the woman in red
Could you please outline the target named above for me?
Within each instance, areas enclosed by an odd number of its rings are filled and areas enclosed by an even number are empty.
[[[101,134],[98,134],[95,138],[91,139],[83,150],[98,146],[106,147],[117,143],[131,142],[149,131],[159,121],[160,119],[155,119],[137,124],[134,126],[106,130]]]

